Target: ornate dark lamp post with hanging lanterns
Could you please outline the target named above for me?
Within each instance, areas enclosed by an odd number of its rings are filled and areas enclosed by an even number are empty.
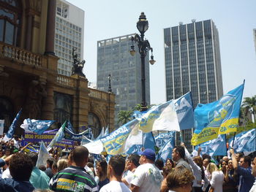
[[[140,53],[141,58],[141,110],[146,110],[146,86],[145,86],[145,57],[148,53],[148,51],[151,51],[151,59],[149,60],[149,63],[153,65],[156,61],[154,61],[154,55],[153,55],[153,48],[150,46],[147,39],[144,40],[144,34],[148,30],[148,20],[146,20],[146,15],[144,15],[144,12],[141,12],[140,18],[137,22],[137,28],[138,31],[140,31],[140,35],[135,34],[135,37],[132,37],[132,46],[129,53],[133,56],[135,55],[135,45],[134,42],[137,42],[138,44],[138,50]]]

